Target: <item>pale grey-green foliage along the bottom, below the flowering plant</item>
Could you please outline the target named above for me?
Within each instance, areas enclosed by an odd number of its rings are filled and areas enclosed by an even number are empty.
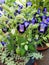
[[[1,46],[1,44],[0,44],[0,46]],[[1,46],[0,48],[3,48],[3,46]],[[39,58],[41,59],[43,56],[40,53],[30,53],[26,57],[25,56],[20,57],[19,55],[14,54],[13,51],[9,54],[9,52],[6,48],[4,49],[4,51],[2,49],[0,49],[1,62],[6,65],[10,65],[10,64],[18,65],[18,63],[19,63],[19,65],[20,64],[25,65],[29,61],[30,57],[34,57],[36,59],[39,59]],[[24,60],[24,61],[19,62],[17,60]]]

